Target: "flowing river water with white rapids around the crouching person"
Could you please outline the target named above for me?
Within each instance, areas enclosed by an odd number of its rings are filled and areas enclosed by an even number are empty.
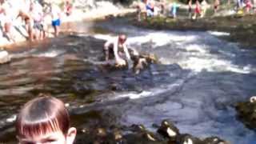
[[[217,37],[225,33],[145,30],[128,23],[98,22],[90,28],[94,32],[10,50],[12,61],[0,66],[0,142],[15,142],[14,114],[39,93],[66,102],[78,128],[143,124],[155,130],[153,123],[169,119],[182,134],[256,142],[234,110],[236,102],[256,94],[256,51]],[[76,28],[81,32],[85,25]],[[130,47],[157,55],[159,63],[140,74],[102,66],[104,40],[118,33],[128,35]]]

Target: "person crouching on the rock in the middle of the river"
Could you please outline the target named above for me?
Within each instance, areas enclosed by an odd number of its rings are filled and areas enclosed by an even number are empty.
[[[110,39],[104,44],[105,60],[110,58],[115,59],[118,66],[125,66],[126,61],[123,59],[123,55],[126,55],[126,59],[130,60],[130,54],[126,46],[126,35],[120,34],[117,38]],[[124,54],[123,54],[124,52]]]

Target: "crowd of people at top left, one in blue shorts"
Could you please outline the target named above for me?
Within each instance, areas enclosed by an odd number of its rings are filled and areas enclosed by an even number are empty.
[[[40,1],[41,2],[41,1]],[[0,0],[0,22],[3,35],[12,42],[15,42],[13,34],[15,25],[22,25],[26,28],[27,39],[30,41],[42,40],[50,35],[51,23],[54,29],[54,36],[58,36],[61,25],[62,13],[67,16],[72,12],[72,3],[65,1],[63,10],[57,3],[40,3],[38,0]],[[47,22],[47,17],[51,22]]]

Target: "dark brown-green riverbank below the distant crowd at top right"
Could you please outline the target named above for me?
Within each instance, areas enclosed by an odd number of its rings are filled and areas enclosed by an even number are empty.
[[[199,30],[199,31],[220,31],[230,42],[241,44],[242,48],[256,48],[255,34],[256,22],[254,15],[229,15],[218,17],[198,18],[196,20],[188,18],[148,18],[141,22],[134,21],[134,26],[154,30]]]

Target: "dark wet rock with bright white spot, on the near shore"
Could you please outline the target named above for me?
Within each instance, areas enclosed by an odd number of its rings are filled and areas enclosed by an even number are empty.
[[[176,141],[176,138],[179,135],[179,130],[174,124],[164,120],[158,128],[158,134],[161,134],[164,138],[169,138],[170,141]]]

